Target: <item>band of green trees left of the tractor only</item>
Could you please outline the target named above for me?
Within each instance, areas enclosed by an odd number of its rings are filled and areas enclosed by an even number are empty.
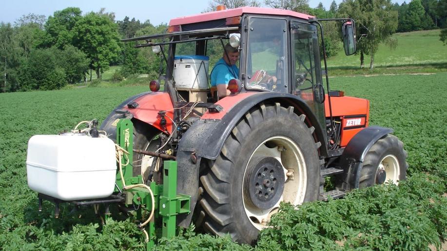
[[[149,20],[115,21],[105,9],[82,15],[79,8],[53,16],[28,14],[14,24],[0,23],[0,92],[53,90],[66,84],[97,79],[110,65],[122,65],[118,78],[155,72],[154,56],[145,56],[134,44],[119,39],[162,33],[166,24]],[[148,63],[149,62],[149,63]]]

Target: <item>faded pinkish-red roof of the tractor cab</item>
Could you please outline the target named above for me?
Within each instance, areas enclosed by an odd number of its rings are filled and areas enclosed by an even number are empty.
[[[303,14],[303,13],[294,12],[291,10],[258,8],[258,7],[240,7],[240,8],[236,8],[236,9],[227,9],[227,10],[207,12],[207,13],[202,13],[202,14],[193,15],[193,16],[178,17],[175,19],[171,19],[171,21],[169,22],[169,25],[170,26],[182,25],[182,24],[188,24],[188,23],[212,21],[212,20],[217,20],[217,19],[240,17],[245,13],[261,14],[261,15],[291,16],[291,17],[296,17],[296,18],[301,18],[301,19],[313,18],[313,16]]]

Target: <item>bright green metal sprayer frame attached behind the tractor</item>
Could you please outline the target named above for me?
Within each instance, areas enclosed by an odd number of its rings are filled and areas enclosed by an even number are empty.
[[[122,157],[122,172],[126,185],[142,184],[141,175],[133,176],[133,123],[124,118],[117,122],[117,144],[128,152]],[[140,163],[137,163],[140,165]],[[121,180],[119,170],[117,171],[115,192],[125,193],[125,204],[136,206],[137,217],[142,219],[142,211],[151,212],[152,198],[144,188],[125,189]],[[179,213],[190,213],[191,196],[177,194],[177,162],[166,160],[163,162],[163,184],[157,185],[150,182],[149,187],[154,194],[155,209],[154,216],[149,222],[149,242],[147,249],[151,250],[155,245],[155,220],[161,217],[162,237],[171,238],[175,236],[176,215]],[[143,220],[143,219],[142,219]]]

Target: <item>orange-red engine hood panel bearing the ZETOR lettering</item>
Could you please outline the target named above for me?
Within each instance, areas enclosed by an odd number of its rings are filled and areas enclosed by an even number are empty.
[[[340,146],[348,145],[350,139],[369,123],[369,100],[358,97],[330,97],[332,117],[342,123]],[[329,98],[324,102],[325,116],[330,117]]]

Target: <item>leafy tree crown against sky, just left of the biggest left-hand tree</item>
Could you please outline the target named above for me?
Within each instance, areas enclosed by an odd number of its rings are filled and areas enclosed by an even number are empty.
[[[79,8],[69,7],[61,11],[55,11],[54,17],[48,17],[45,23],[44,46],[56,46],[63,49],[65,45],[73,43],[73,28],[78,20],[82,19],[82,11]]]

